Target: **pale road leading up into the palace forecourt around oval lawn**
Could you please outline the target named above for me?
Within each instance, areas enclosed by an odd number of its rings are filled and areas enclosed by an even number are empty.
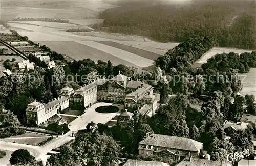
[[[86,126],[91,121],[95,123],[106,123],[111,120],[114,116],[119,115],[120,113],[110,113],[110,114],[102,114],[95,112],[95,108],[99,106],[105,105],[112,105],[111,103],[96,103],[88,108],[85,113],[81,116],[78,116],[74,121],[72,121],[70,125],[70,131],[65,135],[56,137],[55,139],[51,140],[49,143],[39,147],[39,146],[32,146],[32,145],[24,145],[24,144],[17,144],[11,142],[4,142],[0,141],[0,149],[15,151],[17,149],[27,149],[35,158],[36,160],[46,161],[49,155],[46,155],[47,152],[53,152],[53,148],[57,148],[60,145],[67,143],[68,141],[74,139],[70,135],[72,132],[76,132],[79,129],[86,129]]]

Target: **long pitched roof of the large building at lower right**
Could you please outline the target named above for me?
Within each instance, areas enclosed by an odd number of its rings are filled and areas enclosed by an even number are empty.
[[[188,150],[194,152],[199,152],[200,149],[203,147],[203,143],[200,143],[193,139],[160,134],[154,134],[154,137],[153,135],[148,136],[144,140],[139,142],[139,144]]]

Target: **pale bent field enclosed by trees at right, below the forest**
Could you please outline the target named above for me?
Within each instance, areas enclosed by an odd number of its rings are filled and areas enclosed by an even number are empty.
[[[215,56],[218,53],[230,53],[230,52],[234,52],[234,53],[243,53],[243,52],[252,52],[253,50],[245,50],[245,49],[235,49],[235,48],[220,48],[220,47],[214,47],[212,49],[210,49],[208,52],[206,52],[201,59],[199,59],[196,63],[206,63],[207,60],[209,58],[211,58],[212,56]]]

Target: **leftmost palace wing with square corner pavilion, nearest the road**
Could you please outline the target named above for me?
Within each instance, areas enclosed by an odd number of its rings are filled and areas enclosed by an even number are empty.
[[[40,126],[68,107],[69,98],[67,98],[66,96],[60,96],[47,104],[43,104],[35,100],[27,106],[27,124],[34,124]]]

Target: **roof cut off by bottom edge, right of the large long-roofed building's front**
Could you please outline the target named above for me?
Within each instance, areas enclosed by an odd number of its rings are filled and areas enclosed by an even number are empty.
[[[221,161],[211,161],[206,159],[199,159],[199,158],[191,158],[189,161],[189,157],[186,157],[183,161],[178,163],[176,166],[221,166]],[[222,166],[231,166],[226,162],[222,162]]]

